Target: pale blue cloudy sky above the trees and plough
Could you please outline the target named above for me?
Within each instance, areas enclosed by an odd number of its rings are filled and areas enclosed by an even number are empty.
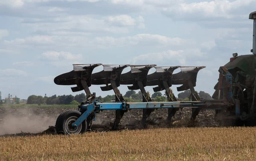
[[[248,18],[255,6],[256,0],[0,0],[2,98],[80,94],[53,79],[88,63],[206,66],[195,90],[212,95],[219,67],[235,52],[252,54]],[[114,94],[98,85],[90,90]]]

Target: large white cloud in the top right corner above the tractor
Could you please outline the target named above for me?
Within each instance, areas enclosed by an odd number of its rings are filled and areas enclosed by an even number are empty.
[[[207,19],[211,21],[210,18],[213,17],[226,19],[237,18],[238,15],[242,15],[242,9],[244,7],[253,5],[256,5],[255,0],[235,0],[233,2],[228,0],[213,0],[210,2],[179,3],[163,8],[163,13],[175,19]]]

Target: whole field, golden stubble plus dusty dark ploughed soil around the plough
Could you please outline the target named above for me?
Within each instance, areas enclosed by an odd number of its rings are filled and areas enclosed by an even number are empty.
[[[119,131],[97,129],[103,120],[113,122],[114,111],[105,111],[97,115],[94,130],[98,132],[71,136],[55,135],[54,130],[42,133],[55,125],[62,111],[72,108],[76,109],[75,106],[0,107],[0,160],[253,161],[256,158],[256,127],[218,127],[212,111],[200,112],[194,124],[187,124],[190,110],[183,109],[173,117],[175,124],[166,126],[167,111],[159,109],[151,114],[148,129],[141,130],[131,127],[131,123],[142,117],[142,111],[131,110],[125,113]]]

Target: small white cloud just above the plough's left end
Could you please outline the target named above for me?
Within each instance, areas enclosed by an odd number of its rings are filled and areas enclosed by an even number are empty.
[[[44,52],[42,54],[43,59],[47,59],[50,61],[57,60],[80,60],[82,55],[73,55],[70,52]]]

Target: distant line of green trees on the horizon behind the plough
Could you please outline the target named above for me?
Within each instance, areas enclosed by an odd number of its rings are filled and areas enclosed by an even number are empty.
[[[149,94],[149,93],[148,93]],[[150,94],[149,94],[150,95]],[[198,92],[200,98],[204,99],[212,99],[209,93],[204,91]],[[190,90],[186,90],[184,92],[179,93],[178,95],[179,101],[189,101],[191,92]],[[129,90],[124,95],[125,101],[128,102],[142,102],[142,93],[139,91],[136,93],[134,90]],[[166,95],[163,95],[161,92],[154,92],[151,95],[153,101],[163,102],[167,101]],[[86,95],[81,93],[79,95],[52,95],[51,97],[42,97],[36,95],[30,95],[27,100],[27,104],[80,104],[82,101],[86,100]],[[96,100],[100,102],[113,102],[115,101],[115,95],[107,95],[106,97],[96,97]]]

